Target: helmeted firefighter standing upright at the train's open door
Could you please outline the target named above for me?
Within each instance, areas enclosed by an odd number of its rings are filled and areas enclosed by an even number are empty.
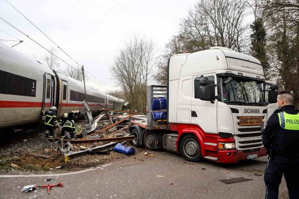
[[[57,122],[56,120],[56,113],[57,108],[55,106],[52,106],[49,111],[42,111],[42,115],[46,116],[45,119],[45,128],[46,128],[46,133],[45,137],[48,138],[49,140],[54,140],[54,126]]]

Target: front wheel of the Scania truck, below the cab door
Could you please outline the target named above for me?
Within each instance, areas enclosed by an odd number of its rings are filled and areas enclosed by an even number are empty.
[[[180,151],[182,156],[190,162],[202,160],[202,151],[195,135],[186,135],[181,140]]]

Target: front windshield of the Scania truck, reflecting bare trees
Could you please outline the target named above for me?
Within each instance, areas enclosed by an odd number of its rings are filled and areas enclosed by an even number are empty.
[[[221,79],[222,82],[225,81],[225,79]],[[264,105],[261,82],[233,78],[230,83],[222,83],[222,85],[222,102],[240,105]]]

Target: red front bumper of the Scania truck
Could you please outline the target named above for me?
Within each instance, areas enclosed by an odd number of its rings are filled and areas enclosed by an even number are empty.
[[[243,151],[237,151],[237,150],[218,150],[218,157],[219,157],[218,162],[236,163],[239,162],[240,160],[246,160],[247,155],[250,154],[257,154],[257,157],[262,157],[267,155],[265,147],[261,148],[260,151],[252,152],[252,153],[244,153]]]

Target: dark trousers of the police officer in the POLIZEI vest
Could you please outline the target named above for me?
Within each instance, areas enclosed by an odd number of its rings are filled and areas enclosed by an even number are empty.
[[[282,175],[286,179],[290,199],[299,199],[299,158],[286,158],[274,155],[268,159],[264,180],[266,199],[278,198],[278,188]]]

